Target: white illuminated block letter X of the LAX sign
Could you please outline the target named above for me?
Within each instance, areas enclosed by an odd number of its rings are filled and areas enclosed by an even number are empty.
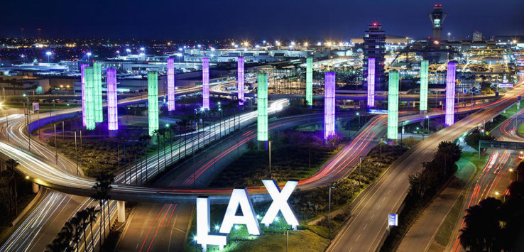
[[[295,217],[293,210],[289,207],[288,199],[298,185],[298,180],[289,180],[286,182],[282,192],[280,192],[280,187],[278,187],[275,180],[262,180],[262,182],[264,186],[266,186],[266,190],[268,190],[271,199],[273,199],[273,203],[271,203],[268,212],[266,212],[266,215],[264,215],[261,221],[262,224],[269,226],[277,216],[278,210],[280,210],[285,221],[293,226],[293,229],[297,229],[297,226],[299,225],[298,219]]]

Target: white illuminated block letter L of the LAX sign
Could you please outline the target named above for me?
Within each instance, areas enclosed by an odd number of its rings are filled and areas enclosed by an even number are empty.
[[[204,251],[207,245],[218,245],[220,249],[226,246],[226,236],[209,235],[211,229],[209,219],[209,197],[197,197],[197,243],[202,245]]]

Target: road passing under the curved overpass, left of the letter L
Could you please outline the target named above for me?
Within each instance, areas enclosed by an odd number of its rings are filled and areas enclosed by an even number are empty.
[[[307,122],[322,124],[322,114],[270,121],[269,131],[290,128]],[[244,128],[199,153],[158,179],[153,186],[204,187],[226,165],[246,149],[246,143],[256,138],[256,126]],[[119,251],[181,251],[189,229],[194,204],[138,204],[119,241]]]

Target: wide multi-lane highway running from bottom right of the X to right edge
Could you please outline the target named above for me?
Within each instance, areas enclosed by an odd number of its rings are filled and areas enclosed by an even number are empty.
[[[344,224],[327,251],[378,250],[386,236],[388,214],[400,212],[403,199],[408,193],[408,175],[419,171],[422,162],[431,160],[438,143],[454,141],[471,128],[481,125],[485,119],[493,118],[515,103],[518,95],[521,94],[523,94],[522,82],[497,102],[457,121],[453,126],[438,131],[408,150],[373,185],[355,199],[351,206],[351,219]]]

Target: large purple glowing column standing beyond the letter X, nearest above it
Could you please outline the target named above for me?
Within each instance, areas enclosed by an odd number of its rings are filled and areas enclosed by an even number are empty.
[[[324,139],[334,135],[334,72],[324,76]]]

